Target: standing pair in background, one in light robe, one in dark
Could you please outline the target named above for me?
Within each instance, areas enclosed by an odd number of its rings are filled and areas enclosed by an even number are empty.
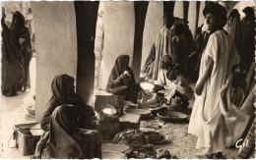
[[[170,55],[173,63],[181,65],[187,73],[188,55],[193,44],[193,36],[187,24],[188,22],[174,18],[170,13],[164,14],[164,27],[160,29],[142,70],[147,79],[160,79],[160,57],[162,55]]]

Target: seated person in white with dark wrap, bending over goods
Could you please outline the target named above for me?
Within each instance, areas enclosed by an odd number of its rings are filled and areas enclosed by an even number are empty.
[[[169,55],[163,55],[160,58],[160,78],[158,82],[166,90],[169,90],[169,94],[165,95],[167,103],[170,98],[178,97],[184,107],[189,105],[188,100],[192,98],[194,91],[185,80],[181,66],[172,63],[172,58]],[[174,92],[171,90],[174,90]]]

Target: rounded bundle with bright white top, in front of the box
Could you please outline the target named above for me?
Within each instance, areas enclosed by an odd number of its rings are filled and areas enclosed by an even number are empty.
[[[101,111],[98,123],[104,139],[112,139],[116,133],[120,132],[119,116],[115,107],[111,105],[106,105]]]

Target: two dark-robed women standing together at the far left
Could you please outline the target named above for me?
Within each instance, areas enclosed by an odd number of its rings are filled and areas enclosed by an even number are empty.
[[[31,87],[31,34],[23,14],[16,11],[10,27],[5,24],[6,10],[2,8],[2,95],[15,96],[18,90]]]

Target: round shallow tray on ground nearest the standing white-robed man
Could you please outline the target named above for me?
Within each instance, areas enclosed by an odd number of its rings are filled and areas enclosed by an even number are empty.
[[[171,111],[168,113],[160,112],[158,113],[158,117],[160,117],[160,120],[165,122],[183,122],[188,118],[187,115],[176,111]]]

